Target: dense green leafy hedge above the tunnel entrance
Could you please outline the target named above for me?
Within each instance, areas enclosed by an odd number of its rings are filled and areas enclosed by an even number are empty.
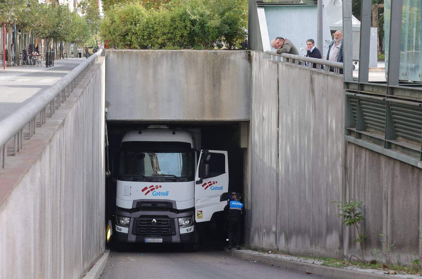
[[[100,32],[116,48],[231,49],[245,40],[247,23],[247,0],[181,0],[159,9],[131,2],[112,6]]]

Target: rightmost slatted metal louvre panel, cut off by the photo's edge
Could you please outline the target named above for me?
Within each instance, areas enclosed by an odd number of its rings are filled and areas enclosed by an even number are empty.
[[[390,103],[396,136],[421,143],[422,107]]]

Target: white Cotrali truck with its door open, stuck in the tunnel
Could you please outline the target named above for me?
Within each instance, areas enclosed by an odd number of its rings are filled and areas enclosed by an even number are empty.
[[[199,247],[204,225],[224,223],[227,151],[197,150],[195,133],[150,125],[127,132],[119,150],[117,242]]]

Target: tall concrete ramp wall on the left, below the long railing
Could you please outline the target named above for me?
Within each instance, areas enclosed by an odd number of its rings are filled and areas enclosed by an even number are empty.
[[[7,158],[1,279],[81,278],[105,250],[104,71],[100,58],[22,152]]]

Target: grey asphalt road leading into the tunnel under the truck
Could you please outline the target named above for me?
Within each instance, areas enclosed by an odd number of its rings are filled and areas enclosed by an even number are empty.
[[[250,262],[227,255],[222,247],[199,252],[182,252],[180,247],[133,246],[121,251],[111,250],[101,279],[140,278],[326,278],[286,268]]]

